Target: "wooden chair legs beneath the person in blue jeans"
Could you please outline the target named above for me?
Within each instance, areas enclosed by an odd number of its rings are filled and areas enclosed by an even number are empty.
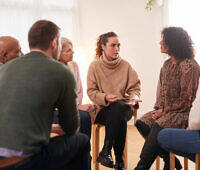
[[[175,169],[175,155],[173,153],[169,153],[170,158],[170,170]],[[188,170],[188,159],[184,157],[184,170]],[[196,154],[195,157],[195,170],[200,170],[200,154]]]

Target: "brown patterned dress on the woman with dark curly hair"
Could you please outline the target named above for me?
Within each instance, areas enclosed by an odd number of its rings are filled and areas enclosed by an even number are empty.
[[[196,97],[200,67],[194,59],[172,63],[168,59],[161,68],[154,109],[163,109],[165,115],[154,120],[151,111],[140,120],[152,127],[156,122],[162,128],[187,128],[190,108]]]

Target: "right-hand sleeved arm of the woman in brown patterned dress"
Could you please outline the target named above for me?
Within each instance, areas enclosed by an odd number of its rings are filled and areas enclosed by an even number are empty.
[[[199,69],[195,66],[183,65],[182,75],[180,79],[180,97],[173,102],[171,106],[164,109],[168,112],[185,112],[190,109],[192,102],[195,99],[198,88]]]

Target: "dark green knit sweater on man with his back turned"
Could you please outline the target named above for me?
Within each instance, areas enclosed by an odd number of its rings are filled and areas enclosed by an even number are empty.
[[[0,147],[38,153],[49,142],[54,108],[67,134],[79,126],[76,83],[62,63],[40,52],[0,68]]]

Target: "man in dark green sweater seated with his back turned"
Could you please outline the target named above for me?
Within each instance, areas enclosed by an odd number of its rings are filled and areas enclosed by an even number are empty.
[[[75,79],[56,61],[59,32],[53,22],[37,21],[28,33],[31,52],[0,69],[0,169],[88,169],[89,139],[76,134]],[[55,108],[64,134],[49,139]]]

